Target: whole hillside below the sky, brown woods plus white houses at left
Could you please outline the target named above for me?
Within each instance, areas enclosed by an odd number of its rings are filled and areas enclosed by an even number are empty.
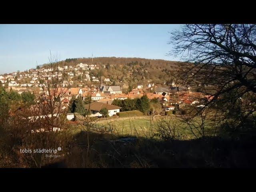
[[[87,67],[79,67],[81,63]],[[143,88],[152,83],[168,86],[172,78],[166,75],[166,71],[175,70],[180,64],[176,61],[160,59],[98,57],[93,60],[92,58],[68,58],[59,61],[58,66],[66,69],[65,83],[72,87],[83,87],[91,83],[99,86],[103,83],[121,86],[123,92],[128,92],[138,85],[143,85]],[[44,75],[49,75],[44,71],[47,64],[42,64],[39,68]],[[38,86],[38,76],[34,69],[4,74],[1,78],[1,83],[6,88],[8,85]],[[10,81],[12,81],[11,84]]]

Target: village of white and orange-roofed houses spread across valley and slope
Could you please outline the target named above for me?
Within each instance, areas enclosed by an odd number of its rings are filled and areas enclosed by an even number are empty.
[[[70,105],[70,100],[72,98],[82,98],[90,97],[93,102],[99,102],[101,105],[94,111],[91,116],[102,116],[99,111],[102,108],[107,108],[109,116],[116,115],[120,112],[120,107],[111,105],[112,102],[116,100],[125,100],[127,98],[135,99],[141,98],[142,96],[147,96],[149,100],[157,99],[161,106],[162,112],[160,114],[165,115],[166,112],[180,110],[180,108],[185,108],[186,106],[196,105],[197,107],[202,107],[200,105],[200,100],[207,99],[210,100],[210,96],[204,96],[202,93],[191,92],[190,88],[184,88],[183,86],[176,85],[172,82],[171,86],[155,85],[154,82],[148,82],[148,84],[139,84],[137,87],[133,87],[130,92],[122,92],[127,85],[122,86],[112,86],[110,78],[104,78],[104,80],[96,78],[95,76],[90,76],[90,70],[99,70],[100,68],[106,68],[105,65],[96,64],[76,64],[76,66],[63,66],[52,71],[52,68],[36,68],[30,69],[24,72],[13,72],[11,74],[6,74],[5,76],[0,76],[0,82],[5,87],[6,91],[16,91],[19,94],[22,92],[32,92],[34,94],[42,94],[43,86],[45,86],[46,81],[50,81],[52,78],[66,75],[63,78],[62,88],[59,90],[63,94],[60,95],[60,101],[62,109],[68,109]],[[80,77],[79,83],[74,87],[73,80],[74,77]],[[82,78],[84,77],[84,78]],[[25,82],[25,83],[20,83]],[[26,83],[27,82],[27,83]],[[90,86],[88,86],[90,83]],[[107,84],[107,85],[106,85]],[[70,118],[68,118],[70,119]]]

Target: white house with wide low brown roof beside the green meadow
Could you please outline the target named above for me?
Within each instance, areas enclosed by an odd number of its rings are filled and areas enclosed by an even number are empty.
[[[116,113],[120,112],[121,107],[118,107],[115,105],[109,105],[101,102],[93,102],[91,104],[85,105],[85,108],[87,110],[89,110],[90,108],[90,111],[91,111],[90,117],[101,117],[102,114],[100,114],[100,110],[102,110],[103,108],[106,108],[108,110],[109,116],[113,116],[113,115],[116,115]]]

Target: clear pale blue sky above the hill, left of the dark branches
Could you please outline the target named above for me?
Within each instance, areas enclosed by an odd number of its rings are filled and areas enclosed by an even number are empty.
[[[178,24],[1,24],[0,74],[48,62],[50,51],[66,58],[167,56],[170,34]]]

